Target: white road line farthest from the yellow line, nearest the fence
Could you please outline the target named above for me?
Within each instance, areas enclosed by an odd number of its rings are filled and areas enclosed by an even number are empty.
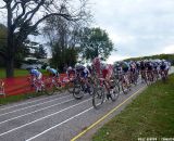
[[[51,97],[48,97],[48,98],[42,98],[42,99],[39,99],[39,100],[33,100],[33,101],[30,101],[30,102],[25,102],[25,103],[21,103],[21,104],[17,104],[17,105],[8,106],[8,107],[4,107],[4,108],[0,108],[0,111],[13,108],[13,107],[21,106],[21,105],[26,105],[26,104],[29,104],[29,103],[39,102],[39,101],[47,100],[47,99],[54,98],[54,97],[58,97],[58,95],[51,95]],[[67,95],[66,95],[66,97],[67,97]],[[62,98],[63,98],[63,97],[62,97]],[[65,97],[64,97],[64,98],[65,98]],[[5,105],[4,105],[4,106],[5,106]]]

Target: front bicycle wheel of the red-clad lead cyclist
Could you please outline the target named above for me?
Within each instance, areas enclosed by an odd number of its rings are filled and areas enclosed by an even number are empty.
[[[92,106],[99,108],[104,101],[104,90],[102,87],[95,88],[92,94]]]

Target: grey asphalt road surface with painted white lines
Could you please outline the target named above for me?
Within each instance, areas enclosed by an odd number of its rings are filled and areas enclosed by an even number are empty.
[[[117,101],[105,101],[99,110],[92,107],[90,95],[75,100],[67,92],[0,106],[0,141],[70,141],[142,88],[145,85],[138,84],[129,93],[120,93]]]

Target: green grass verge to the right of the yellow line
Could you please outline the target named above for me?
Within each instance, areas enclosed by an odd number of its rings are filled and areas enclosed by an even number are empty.
[[[92,141],[138,141],[174,138],[174,75],[166,84],[147,88],[126,108],[105,124]]]

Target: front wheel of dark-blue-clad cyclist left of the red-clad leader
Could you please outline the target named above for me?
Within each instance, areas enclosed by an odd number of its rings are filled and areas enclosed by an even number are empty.
[[[79,81],[75,81],[74,84],[73,97],[77,100],[80,100],[84,97],[82,84]]]

